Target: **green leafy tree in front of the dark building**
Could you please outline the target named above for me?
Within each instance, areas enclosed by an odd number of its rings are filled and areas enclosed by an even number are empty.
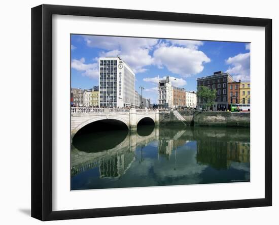
[[[217,91],[205,86],[200,86],[197,91],[199,102],[202,102],[202,108],[208,110],[215,103]],[[202,100],[202,101],[201,101]]]

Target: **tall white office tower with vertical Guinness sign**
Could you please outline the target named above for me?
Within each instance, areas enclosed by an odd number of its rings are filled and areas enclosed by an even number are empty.
[[[99,58],[99,106],[133,107],[135,74],[120,57]]]

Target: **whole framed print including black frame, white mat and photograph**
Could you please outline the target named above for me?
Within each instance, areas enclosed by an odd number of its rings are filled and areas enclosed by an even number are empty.
[[[271,206],[271,19],[31,11],[31,216]]]

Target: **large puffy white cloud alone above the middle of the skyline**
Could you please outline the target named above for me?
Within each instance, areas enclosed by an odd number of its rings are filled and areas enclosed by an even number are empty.
[[[159,68],[165,66],[170,72],[186,77],[200,73],[203,63],[210,62],[202,51],[178,46],[161,45],[153,55]]]

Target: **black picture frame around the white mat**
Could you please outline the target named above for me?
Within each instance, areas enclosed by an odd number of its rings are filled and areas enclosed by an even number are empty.
[[[199,203],[52,210],[52,16],[74,15],[265,28],[265,197]],[[40,5],[31,9],[31,216],[40,220],[184,212],[272,205],[272,20],[124,9]]]

